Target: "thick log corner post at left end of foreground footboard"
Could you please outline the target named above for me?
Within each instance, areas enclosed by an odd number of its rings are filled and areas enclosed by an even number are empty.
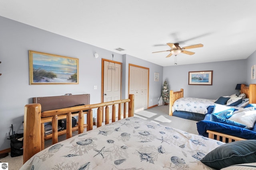
[[[35,114],[37,113],[37,114]],[[41,105],[27,104],[24,108],[23,163],[41,151]]]

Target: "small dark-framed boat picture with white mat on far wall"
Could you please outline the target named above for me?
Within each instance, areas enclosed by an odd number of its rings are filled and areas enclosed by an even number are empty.
[[[188,85],[212,85],[212,70],[188,72]]]

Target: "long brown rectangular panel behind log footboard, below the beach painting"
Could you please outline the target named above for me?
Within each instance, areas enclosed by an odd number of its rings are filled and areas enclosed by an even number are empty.
[[[42,107],[42,112],[46,110],[62,109],[80,104],[90,104],[90,94],[50,96],[50,97],[35,97],[33,103],[39,103]]]

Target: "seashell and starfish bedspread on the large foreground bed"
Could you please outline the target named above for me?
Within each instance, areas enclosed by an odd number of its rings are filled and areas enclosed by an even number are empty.
[[[208,170],[200,160],[222,144],[128,117],[48,147],[21,170]]]

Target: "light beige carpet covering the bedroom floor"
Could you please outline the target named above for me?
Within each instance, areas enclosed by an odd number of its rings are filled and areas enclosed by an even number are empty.
[[[151,109],[146,109],[135,113],[134,116],[141,117],[143,119],[149,119],[156,123],[159,123],[164,126],[173,127],[176,129],[180,129],[182,131],[186,131],[188,133],[193,133],[198,135],[196,122],[188,119],[182,119],[175,116],[169,116],[169,106],[156,106]],[[104,123],[103,123],[104,124]],[[96,128],[96,126],[94,126]],[[73,136],[76,135],[77,132],[73,133]],[[62,141],[66,138],[65,135],[59,137],[59,141]],[[45,148],[50,146],[52,143],[51,140],[45,141]],[[1,158],[0,162],[8,162],[9,163],[9,170],[19,170],[23,164],[23,156],[11,157],[10,153],[9,156],[5,158]]]

